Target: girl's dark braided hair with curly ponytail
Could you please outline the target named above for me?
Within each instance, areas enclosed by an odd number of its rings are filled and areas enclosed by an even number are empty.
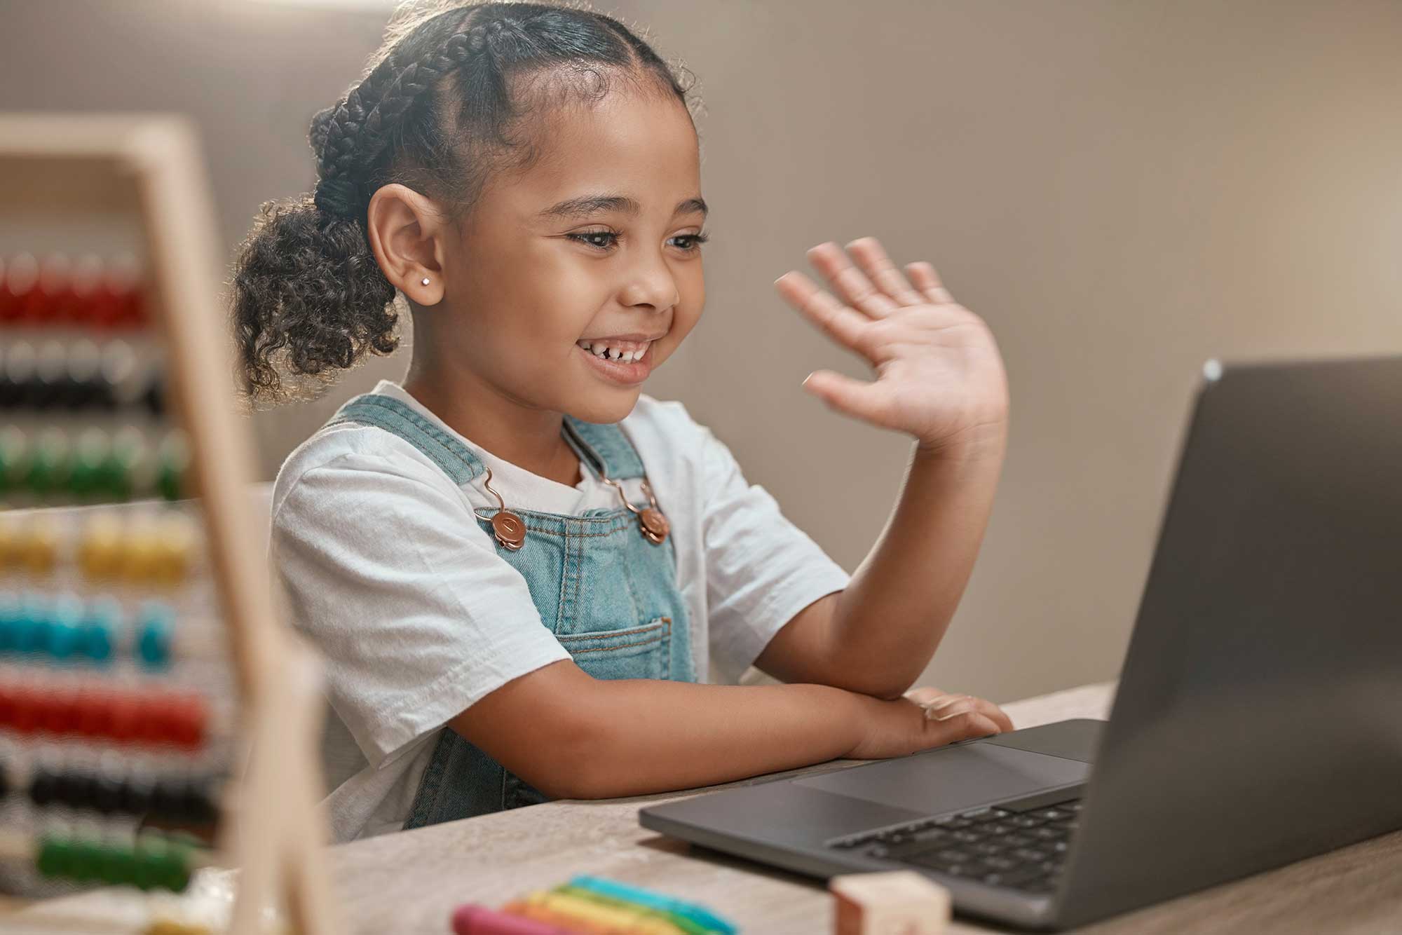
[[[550,80],[520,80],[534,76]],[[376,189],[400,182],[470,213],[488,178],[538,157],[522,118],[599,101],[618,80],[688,105],[672,66],[578,0],[397,14],[360,81],[311,119],[315,191],[262,205],[238,250],[233,325],[250,398],[315,391],[398,346],[395,289],[366,230]]]

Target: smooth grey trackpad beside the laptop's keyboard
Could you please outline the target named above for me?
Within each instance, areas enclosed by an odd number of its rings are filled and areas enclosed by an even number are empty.
[[[1089,775],[1089,763],[991,743],[970,743],[794,782],[934,814],[1085,782]]]

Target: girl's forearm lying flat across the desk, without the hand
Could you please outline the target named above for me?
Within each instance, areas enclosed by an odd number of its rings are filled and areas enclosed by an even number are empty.
[[[582,692],[568,798],[690,789],[823,763],[861,739],[861,697],[829,685],[624,678]],[[866,699],[871,701],[871,699]]]

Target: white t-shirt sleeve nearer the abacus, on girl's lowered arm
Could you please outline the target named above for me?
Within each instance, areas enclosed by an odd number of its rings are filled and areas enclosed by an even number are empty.
[[[569,659],[447,477],[372,454],[304,471],[271,559],[327,692],[379,767],[508,681]]]

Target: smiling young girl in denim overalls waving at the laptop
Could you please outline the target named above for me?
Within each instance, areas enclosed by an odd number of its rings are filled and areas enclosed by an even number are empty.
[[[701,315],[687,90],[624,25],[482,3],[394,24],[311,125],[320,181],[264,207],[234,317],[255,397],[395,348],[278,475],[272,558],[325,657],[346,840],[547,798],[702,786],[1011,729],[921,688],[1007,436],[983,322],[873,240],[791,272],[878,370],[830,407],[916,439],[848,576],[679,402],[641,394]],[[908,275],[908,280],[907,276]],[[756,664],[778,685],[733,681]]]

